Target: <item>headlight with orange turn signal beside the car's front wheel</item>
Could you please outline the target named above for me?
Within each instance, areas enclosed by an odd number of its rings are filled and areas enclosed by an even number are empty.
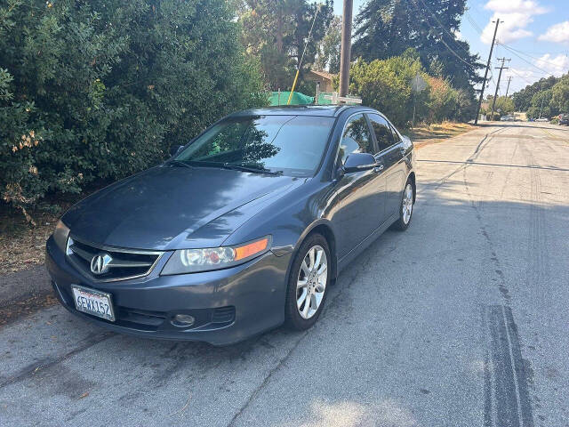
[[[227,269],[264,254],[270,249],[270,243],[270,236],[266,236],[237,246],[179,249],[172,254],[160,274],[183,274]]]

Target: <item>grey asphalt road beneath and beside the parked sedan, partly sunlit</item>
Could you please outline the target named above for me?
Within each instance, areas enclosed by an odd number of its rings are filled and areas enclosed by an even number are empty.
[[[214,348],[40,310],[0,328],[0,425],[569,425],[569,128],[485,126],[418,157],[411,228],[307,333]]]

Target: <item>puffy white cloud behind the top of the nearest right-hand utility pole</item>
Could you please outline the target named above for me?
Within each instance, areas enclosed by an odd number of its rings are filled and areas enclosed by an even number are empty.
[[[495,21],[498,18],[501,20],[496,38],[501,43],[509,43],[532,36],[533,32],[525,28],[533,22],[535,15],[549,12],[548,9],[533,0],[490,0],[484,7],[493,11],[491,20],[486,24],[480,36],[480,40],[485,44],[492,43],[495,28],[493,20]]]

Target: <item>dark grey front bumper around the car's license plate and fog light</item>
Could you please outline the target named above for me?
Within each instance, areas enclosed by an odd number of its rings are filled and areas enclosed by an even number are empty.
[[[50,238],[45,264],[66,309],[119,333],[224,345],[283,323],[291,254],[277,257],[268,252],[230,269],[177,276],[159,275],[168,256],[162,258],[144,278],[97,282],[76,270]],[[71,285],[111,294],[116,321],[77,311]],[[196,323],[174,326],[171,321],[176,314],[190,314]]]

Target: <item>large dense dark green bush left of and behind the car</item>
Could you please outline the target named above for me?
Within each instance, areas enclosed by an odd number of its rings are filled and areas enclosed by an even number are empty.
[[[0,6],[0,194],[25,209],[163,159],[266,102],[226,0]]]

